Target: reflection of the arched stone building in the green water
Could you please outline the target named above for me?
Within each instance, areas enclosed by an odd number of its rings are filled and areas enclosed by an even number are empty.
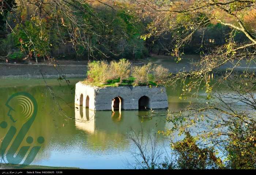
[[[95,134],[95,136],[99,132],[124,134],[131,128],[135,131],[141,131],[143,127],[143,130],[147,131],[151,130],[152,125],[156,123],[156,131],[165,128],[165,116],[151,118],[150,111],[93,111],[89,108],[75,106],[75,119],[76,128]]]

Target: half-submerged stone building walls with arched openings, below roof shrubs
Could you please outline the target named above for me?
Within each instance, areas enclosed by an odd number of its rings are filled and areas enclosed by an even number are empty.
[[[95,87],[76,83],[75,105],[88,107],[93,111],[138,110],[140,108],[168,108],[165,87]]]

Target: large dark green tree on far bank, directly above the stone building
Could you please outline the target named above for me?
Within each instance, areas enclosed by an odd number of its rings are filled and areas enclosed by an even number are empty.
[[[95,45],[100,47],[104,53],[112,55],[114,58],[148,56],[144,41],[139,38],[143,32],[142,23],[136,20],[135,15],[127,13],[123,9],[116,9],[114,12],[112,10],[101,11],[98,16],[105,20],[106,25],[102,28],[98,23],[92,24],[92,29],[104,36],[104,39],[94,38]],[[97,42],[97,40],[100,41]],[[97,53],[97,55],[99,54]]]

